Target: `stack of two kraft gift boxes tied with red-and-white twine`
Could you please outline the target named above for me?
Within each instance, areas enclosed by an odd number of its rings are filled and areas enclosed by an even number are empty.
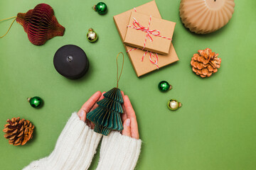
[[[176,23],[161,18],[155,1],[114,16],[114,23],[137,77],[178,61]]]

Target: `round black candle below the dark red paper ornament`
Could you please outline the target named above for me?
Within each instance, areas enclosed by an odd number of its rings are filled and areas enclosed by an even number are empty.
[[[64,45],[55,52],[53,64],[57,72],[68,79],[79,79],[87,72],[89,61],[76,45]]]

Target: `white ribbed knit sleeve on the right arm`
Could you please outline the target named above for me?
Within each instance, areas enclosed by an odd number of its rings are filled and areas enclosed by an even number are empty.
[[[132,170],[139,158],[142,140],[110,132],[103,137],[97,170]]]

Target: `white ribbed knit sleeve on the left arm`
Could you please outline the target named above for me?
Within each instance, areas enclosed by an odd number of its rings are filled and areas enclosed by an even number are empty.
[[[102,135],[91,130],[73,113],[58,137],[53,152],[23,170],[85,170],[92,162]]]

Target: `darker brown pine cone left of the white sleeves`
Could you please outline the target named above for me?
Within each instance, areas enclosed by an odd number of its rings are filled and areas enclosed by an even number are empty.
[[[12,118],[4,125],[4,137],[9,140],[10,145],[25,145],[32,139],[34,125],[29,120]]]

